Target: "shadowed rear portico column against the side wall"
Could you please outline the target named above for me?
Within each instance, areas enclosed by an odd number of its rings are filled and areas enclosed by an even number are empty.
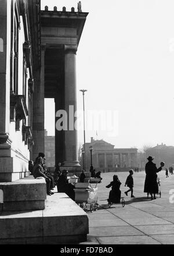
[[[46,44],[41,45],[41,72],[38,71],[36,84],[33,94],[33,118],[32,118],[32,137],[34,146],[32,148],[33,161],[39,152],[45,151],[44,133],[44,98],[45,98],[45,49]]]

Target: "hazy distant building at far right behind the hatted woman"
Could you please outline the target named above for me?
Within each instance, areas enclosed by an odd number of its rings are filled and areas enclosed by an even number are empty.
[[[161,143],[161,145],[157,144],[155,147],[148,148],[148,150],[146,150],[146,158],[148,157],[148,155],[151,155],[154,157],[154,163],[156,163],[157,166],[160,166],[161,161],[165,162],[166,168],[174,165],[174,147],[173,146],[166,146],[163,143]]]

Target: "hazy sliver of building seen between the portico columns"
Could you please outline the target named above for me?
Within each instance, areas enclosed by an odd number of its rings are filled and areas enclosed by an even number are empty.
[[[48,136],[48,131],[45,130],[45,158],[46,166],[55,166],[55,136]]]

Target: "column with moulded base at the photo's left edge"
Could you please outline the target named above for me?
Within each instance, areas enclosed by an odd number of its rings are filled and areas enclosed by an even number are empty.
[[[10,125],[10,1],[0,1],[1,16],[1,51],[0,51],[0,182],[12,181],[13,164],[11,143],[9,138]]]

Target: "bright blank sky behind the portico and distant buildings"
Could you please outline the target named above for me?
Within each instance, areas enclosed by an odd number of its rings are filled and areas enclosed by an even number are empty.
[[[89,12],[77,51],[78,108],[112,109],[119,113],[118,136],[86,130],[115,147],[164,143],[174,145],[174,1],[82,0]],[[78,1],[41,0],[49,10],[66,6],[77,10]],[[50,103],[45,105],[45,128],[55,133]],[[78,132],[83,143],[83,132]]]

